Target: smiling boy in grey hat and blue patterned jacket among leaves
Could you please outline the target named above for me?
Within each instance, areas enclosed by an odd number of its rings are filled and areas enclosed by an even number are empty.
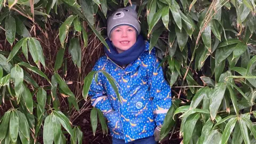
[[[122,104],[107,78],[99,73],[89,95],[92,106],[108,120],[113,143],[156,143],[164,117],[171,107],[171,89],[163,70],[149,53],[149,43],[140,34],[137,13],[132,7],[118,9],[108,18],[108,50],[93,70],[105,70],[118,83]],[[155,135],[155,137],[153,136]]]

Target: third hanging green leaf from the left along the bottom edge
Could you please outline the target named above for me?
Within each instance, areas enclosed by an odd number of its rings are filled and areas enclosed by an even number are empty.
[[[19,130],[20,130],[21,134],[23,135],[23,137],[25,137],[26,140],[29,141],[29,139],[30,139],[29,132],[30,131],[29,131],[29,125],[28,125],[27,118],[26,118],[25,114],[21,113],[18,110],[17,110],[17,114],[19,116]]]

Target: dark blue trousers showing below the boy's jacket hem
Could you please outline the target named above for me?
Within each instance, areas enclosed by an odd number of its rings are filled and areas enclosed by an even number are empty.
[[[116,139],[116,138],[112,138],[113,144],[125,144],[124,140],[122,139]],[[138,140],[134,140],[128,143],[132,143],[132,144],[156,144],[155,138],[154,136],[151,137],[147,137],[147,138],[143,138],[143,139],[138,139]]]

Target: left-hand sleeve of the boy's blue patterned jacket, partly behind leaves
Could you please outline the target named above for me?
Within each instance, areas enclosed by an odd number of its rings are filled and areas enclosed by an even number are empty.
[[[98,61],[93,70],[98,71],[104,67]],[[97,83],[98,82],[98,83]],[[102,111],[103,115],[108,120],[109,128],[116,133],[122,133],[121,119],[118,111],[114,111],[111,107],[111,103],[107,97],[107,93],[104,87],[105,79],[102,73],[98,73],[98,81],[95,82],[95,75],[93,77],[92,84],[90,86],[89,95],[91,97],[91,104],[93,107],[98,108]]]

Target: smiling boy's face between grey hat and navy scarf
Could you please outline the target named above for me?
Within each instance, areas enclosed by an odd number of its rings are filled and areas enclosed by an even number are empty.
[[[118,53],[122,53],[132,47],[137,39],[136,30],[130,26],[118,26],[111,32],[110,41],[116,47]]]

